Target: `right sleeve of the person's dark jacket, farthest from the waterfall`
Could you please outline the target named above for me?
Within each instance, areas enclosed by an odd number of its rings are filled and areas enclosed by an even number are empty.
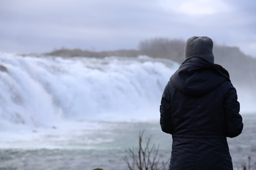
[[[230,83],[230,82],[229,82]],[[230,83],[229,90],[225,93],[224,116],[227,137],[236,137],[243,130],[242,116],[239,114],[240,104],[237,101],[236,89]]]

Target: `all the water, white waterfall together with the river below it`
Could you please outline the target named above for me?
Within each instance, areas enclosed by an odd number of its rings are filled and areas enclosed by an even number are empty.
[[[122,156],[138,148],[143,129],[168,160],[172,139],[161,131],[159,105],[178,67],[147,56],[0,52],[0,169],[127,169]],[[256,161],[256,109],[249,91],[237,88],[244,130],[228,139],[235,169],[249,155]]]

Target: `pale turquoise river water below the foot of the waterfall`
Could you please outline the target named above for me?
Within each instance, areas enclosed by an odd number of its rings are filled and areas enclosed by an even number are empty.
[[[86,123],[86,122],[83,122]],[[256,161],[256,114],[243,115],[243,132],[228,138],[234,169],[251,156]],[[152,122],[94,122],[93,128],[61,131],[31,132],[21,137],[6,137],[0,143],[0,169],[16,170],[104,170],[127,169],[122,159],[128,149],[138,148],[139,131],[151,136],[151,145],[159,144],[159,155],[168,161],[171,135],[161,131],[158,121]],[[54,130],[56,130],[54,132]],[[49,134],[47,134],[49,133]],[[30,137],[29,137],[30,136]],[[145,140],[142,141],[145,145]]]

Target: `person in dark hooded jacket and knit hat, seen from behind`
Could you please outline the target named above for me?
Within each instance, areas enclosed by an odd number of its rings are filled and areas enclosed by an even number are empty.
[[[227,137],[242,132],[240,104],[212,48],[209,37],[189,38],[185,61],[164,89],[160,125],[172,134],[170,170],[233,169]]]

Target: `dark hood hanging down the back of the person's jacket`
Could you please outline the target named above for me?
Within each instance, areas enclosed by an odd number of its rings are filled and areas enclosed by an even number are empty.
[[[207,94],[226,80],[230,81],[223,67],[201,57],[185,60],[170,78],[175,88],[192,96]]]

